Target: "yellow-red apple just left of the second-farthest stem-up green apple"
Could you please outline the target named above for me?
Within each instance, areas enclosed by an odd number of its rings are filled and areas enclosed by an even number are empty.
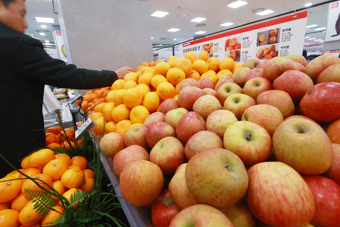
[[[203,117],[203,119],[206,121],[206,118],[209,116],[209,114],[216,110],[222,109],[222,105],[215,96],[204,95],[196,100],[192,106],[192,109],[201,115],[201,117]]]

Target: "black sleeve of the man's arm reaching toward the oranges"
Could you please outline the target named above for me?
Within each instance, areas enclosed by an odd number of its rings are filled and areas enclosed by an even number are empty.
[[[118,79],[109,70],[77,69],[75,65],[52,58],[42,43],[33,39],[25,48],[21,59],[21,73],[37,84],[53,87],[92,89],[110,87]]]

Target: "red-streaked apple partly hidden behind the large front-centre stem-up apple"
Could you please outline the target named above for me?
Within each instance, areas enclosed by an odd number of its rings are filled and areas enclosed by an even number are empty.
[[[201,131],[194,134],[184,148],[188,160],[207,148],[224,148],[221,138],[213,132]]]

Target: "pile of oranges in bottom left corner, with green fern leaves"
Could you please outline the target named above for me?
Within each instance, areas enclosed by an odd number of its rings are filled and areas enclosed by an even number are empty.
[[[70,201],[71,194],[77,191],[90,191],[93,188],[94,172],[87,168],[85,157],[70,158],[66,154],[57,154],[50,149],[41,149],[21,161],[20,171],[35,179],[40,179]],[[0,179],[0,226],[49,226],[61,217],[64,210],[58,201],[53,207],[60,213],[49,211],[46,216],[37,214],[33,209],[32,196],[25,190],[41,191],[30,179],[13,171]],[[9,181],[5,181],[9,180]],[[4,181],[4,182],[1,182]],[[47,185],[37,181],[47,190]],[[56,200],[56,197],[53,199]],[[74,206],[76,207],[76,206]],[[20,226],[21,226],[20,225]]]

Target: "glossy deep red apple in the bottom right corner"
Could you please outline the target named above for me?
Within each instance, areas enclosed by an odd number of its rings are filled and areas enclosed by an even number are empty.
[[[302,176],[315,203],[315,214],[310,224],[317,227],[340,225],[340,185],[323,176]]]

